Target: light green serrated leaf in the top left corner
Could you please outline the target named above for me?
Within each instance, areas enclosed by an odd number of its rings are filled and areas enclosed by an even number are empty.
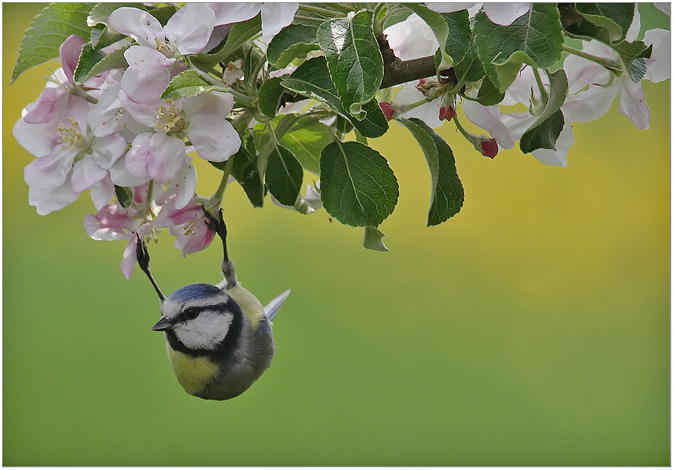
[[[61,43],[71,34],[89,40],[86,17],[93,4],[50,4],[38,13],[21,40],[9,83],[31,67],[58,58]]]

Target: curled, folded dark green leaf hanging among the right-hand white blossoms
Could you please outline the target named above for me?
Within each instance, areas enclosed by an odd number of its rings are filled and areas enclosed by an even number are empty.
[[[555,144],[564,127],[564,114],[560,108],[569,90],[567,74],[564,73],[564,69],[559,69],[548,74],[548,78],[550,93],[546,109],[520,138],[520,149],[524,154],[534,152],[536,149],[556,150]]]

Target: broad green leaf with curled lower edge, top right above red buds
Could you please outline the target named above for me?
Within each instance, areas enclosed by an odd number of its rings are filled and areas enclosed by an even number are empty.
[[[481,12],[473,31],[484,72],[501,92],[515,81],[522,62],[546,69],[562,56],[564,35],[556,4],[531,4],[509,26],[495,25]]]

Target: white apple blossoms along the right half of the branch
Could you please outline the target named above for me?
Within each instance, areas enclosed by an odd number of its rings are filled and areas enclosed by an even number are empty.
[[[432,10],[450,13],[468,8],[474,16],[483,8],[489,20],[498,25],[510,25],[516,18],[526,12],[527,3],[494,3],[494,4],[427,4]],[[669,4],[656,6],[670,14]],[[626,34],[626,41],[635,41],[640,32],[641,21],[638,4],[635,5],[634,19]],[[397,57],[413,60],[432,55],[438,48],[437,40],[430,27],[418,17],[410,15],[407,20],[399,22],[385,30],[388,41]],[[653,83],[670,78],[671,38],[666,29],[649,29],[644,43],[653,46],[649,59],[645,60],[646,72],[643,79]],[[573,122],[589,122],[599,119],[609,111],[612,102],[619,97],[619,111],[634,124],[636,128],[647,129],[650,110],[646,103],[641,81],[633,81],[630,71],[610,71],[607,64],[620,64],[618,53],[600,41],[582,41],[581,55],[569,53],[564,59],[562,68],[568,79],[568,94],[562,105],[564,127],[557,140],[557,149],[537,149],[531,152],[536,159],[548,165],[567,166],[567,155],[574,143]],[[444,120],[455,118],[454,102],[448,102],[448,95],[437,93],[435,88],[442,84],[428,83],[422,79],[418,83],[406,83],[395,95],[392,103],[386,103],[389,119],[396,117],[416,117],[432,128],[442,126]],[[446,88],[446,86],[445,86]],[[458,130],[475,145],[478,152],[494,158],[500,148],[511,149],[520,140],[531,123],[543,112],[546,100],[543,93],[549,90],[548,77],[538,75],[536,69],[525,65],[517,79],[506,90],[503,101],[496,105],[485,106],[475,100],[465,99],[461,103],[463,112],[475,126],[487,130],[491,137],[470,135],[456,119]],[[467,98],[477,95],[477,88],[466,90]],[[503,112],[503,107],[517,109],[523,105],[527,112]],[[451,109],[451,112],[448,110]],[[498,144],[498,147],[496,147]]]

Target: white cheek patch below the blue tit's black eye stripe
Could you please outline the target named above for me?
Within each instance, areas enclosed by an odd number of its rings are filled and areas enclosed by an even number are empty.
[[[231,314],[202,311],[197,318],[174,325],[173,332],[188,349],[213,350],[227,336],[232,318]]]

